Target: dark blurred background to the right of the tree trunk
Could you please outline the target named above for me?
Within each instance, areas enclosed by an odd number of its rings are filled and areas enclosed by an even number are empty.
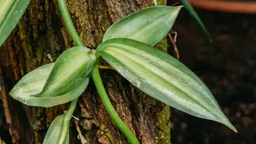
[[[168,5],[173,3],[168,1]],[[180,61],[205,82],[238,132],[172,108],[171,141],[256,143],[256,14],[195,10],[214,45],[207,44],[183,8],[173,26],[178,33]],[[172,44],[169,45],[168,51],[173,55]]]

